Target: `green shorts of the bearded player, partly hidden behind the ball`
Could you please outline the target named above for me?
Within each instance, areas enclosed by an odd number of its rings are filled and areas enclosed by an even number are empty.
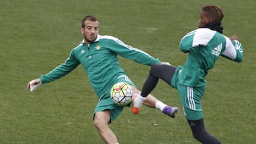
[[[112,85],[116,84],[117,82],[125,82],[135,87],[134,83],[126,75],[120,75],[119,77],[117,77],[117,79],[114,80]],[[120,115],[120,113],[122,113],[123,109],[124,109],[124,106],[119,106],[112,101],[110,97],[110,91],[109,91],[109,92],[106,92],[106,94],[99,99],[99,102],[97,103],[97,106],[94,111],[93,119],[94,119],[95,113],[97,113],[98,111],[110,110],[111,111],[110,123],[111,123]]]

